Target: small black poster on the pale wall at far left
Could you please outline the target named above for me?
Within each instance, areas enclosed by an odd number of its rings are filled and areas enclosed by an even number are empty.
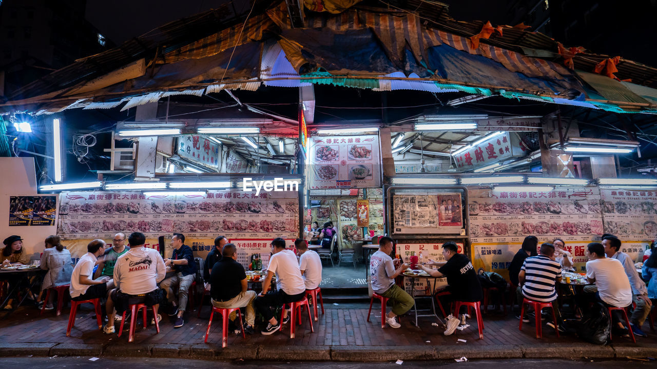
[[[10,196],[9,227],[53,226],[57,212],[57,196]]]

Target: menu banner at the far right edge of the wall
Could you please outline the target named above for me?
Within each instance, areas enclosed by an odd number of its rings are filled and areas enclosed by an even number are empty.
[[[657,188],[632,190],[600,188],[604,230],[623,242],[621,251],[635,262],[657,238]]]

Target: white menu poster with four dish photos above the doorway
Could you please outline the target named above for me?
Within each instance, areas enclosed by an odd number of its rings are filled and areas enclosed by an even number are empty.
[[[311,137],[309,163],[311,189],[381,186],[377,135]]]

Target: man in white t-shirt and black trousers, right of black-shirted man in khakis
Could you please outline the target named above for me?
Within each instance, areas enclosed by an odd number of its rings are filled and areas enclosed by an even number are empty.
[[[276,320],[273,308],[300,301],[306,297],[306,284],[304,284],[304,278],[301,276],[296,255],[290,250],[285,250],[285,240],[283,238],[275,238],[271,242],[271,253],[269,267],[267,267],[267,277],[262,283],[262,292],[254,301],[258,313],[269,321],[267,327],[262,331],[265,336],[273,334],[281,328],[281,323],[284,324],[289,320],[289,318],[284,319],[283,322]],[[279,290],[267,293],[271,287],[271,278],[274,274],[276,274],[276,283]]]

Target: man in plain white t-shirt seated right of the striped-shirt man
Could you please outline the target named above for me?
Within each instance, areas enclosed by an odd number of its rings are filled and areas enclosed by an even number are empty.
[[[627,307],[632,303],[632,288],[629,278],[620,261],[606,257],[604,246],[598,242],[587,245],[586,278],[593,286],[585,286],[584,293],[578,295],[578,306],[587,311],[591,302],[605,306]],[[620,315],[614,311],[613,320],[618,324],[618,334],[625,336],[628,328],[621,323]]]

